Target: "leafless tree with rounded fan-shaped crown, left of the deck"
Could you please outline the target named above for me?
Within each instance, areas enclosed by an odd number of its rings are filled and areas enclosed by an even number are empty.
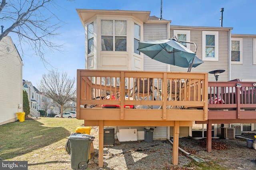
[[[52,98],[61,106],[61,117],[63,106],[70,98],[76,96],[75,78],[70,79],[66,72],[60,74],[58,71],[51,70],[48,74],[43,74],[39,83],[39,89],[46,96]]]

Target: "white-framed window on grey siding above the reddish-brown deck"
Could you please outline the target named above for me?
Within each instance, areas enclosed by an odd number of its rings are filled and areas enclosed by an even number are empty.
[[[242,64],[242,38],[231,39],[231,63]]]

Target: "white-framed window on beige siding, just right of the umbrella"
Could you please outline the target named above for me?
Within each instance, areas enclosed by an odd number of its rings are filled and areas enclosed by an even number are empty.
[[[203,61],[218,61],[218,39],[217,31],[202,31]]]

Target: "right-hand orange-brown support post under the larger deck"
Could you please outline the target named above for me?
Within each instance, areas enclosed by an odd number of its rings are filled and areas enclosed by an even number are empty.
[[[175,121],[174,133],[173,133],[173,145],[172,145],[172,164],[174,165],[178,165],[179,133],[180,133],[180,121]]]

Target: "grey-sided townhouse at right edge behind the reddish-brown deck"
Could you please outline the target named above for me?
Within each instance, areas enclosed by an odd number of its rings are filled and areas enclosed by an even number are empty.
[[[256,35],[231,34],[230,70],[230,80],[256,82]],[[255,123],[232,123],[230,126],[234,125],[240,125],[243,132],[256,131]]]

